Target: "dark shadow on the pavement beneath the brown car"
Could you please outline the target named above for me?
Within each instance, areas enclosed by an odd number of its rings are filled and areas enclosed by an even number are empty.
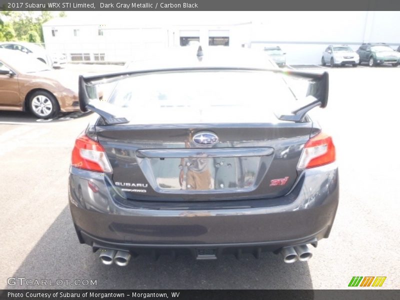
[[[51,119],[38,119],[33,114],[27,111],[0,111],[0,123],[49,123],[73,120],[76,118],[84,117],[91,112],[83,113],[80,111],[62,112]]]

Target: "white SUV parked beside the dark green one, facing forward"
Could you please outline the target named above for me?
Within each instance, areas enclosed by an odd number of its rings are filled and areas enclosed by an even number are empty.
[[[357,66],[358,54],[348,45],[328,45],[322,53],[321,64],[330,66],[351,64]]]

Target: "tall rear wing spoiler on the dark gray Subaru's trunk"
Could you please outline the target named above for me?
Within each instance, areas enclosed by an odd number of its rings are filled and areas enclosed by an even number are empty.
[[[248,70],[248,71],[269,71],[280,73],[282,75],[298,77],[308,80],[308,89],[306,96],[312,96],[314,100],[304,104],[301,107],[295,108],[287,114],[280,114],[277,117],[280,120],[301,122],[308,110],[314,107],[324,108],[328,101],[328,87],[329,77],[327,72],[323,73],[309,73],[296,70],[284,70],[277,68],[235,68],[235,67],[195,67],[195,68],[169,68],[169,69],[152,69],[140,71],[124,71],[100,75],[79,75],[79,108],[81,111],[86,112],[92,110],[98,113],[104,120],[105,124],[119,124],[126,123],[129,120],[123,116],[118,115],[120,111],[115,105],[100,101],[97,95],[96,85],[115,82],[127,77],[160,73],[160,72],[181,72],[181,71],[201,71],[201,70]]]

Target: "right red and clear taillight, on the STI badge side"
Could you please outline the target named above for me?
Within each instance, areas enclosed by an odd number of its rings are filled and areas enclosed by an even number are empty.
[[[332,137],[321,132],[305,143],[297,169],[301,170],[333,162],[335,156]]]

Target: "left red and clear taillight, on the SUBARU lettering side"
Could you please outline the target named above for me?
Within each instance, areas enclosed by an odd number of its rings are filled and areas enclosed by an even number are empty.
[[[104,148],[85,134],[79,135],[75,140],[71,165],[90,171],[112,172]]]

